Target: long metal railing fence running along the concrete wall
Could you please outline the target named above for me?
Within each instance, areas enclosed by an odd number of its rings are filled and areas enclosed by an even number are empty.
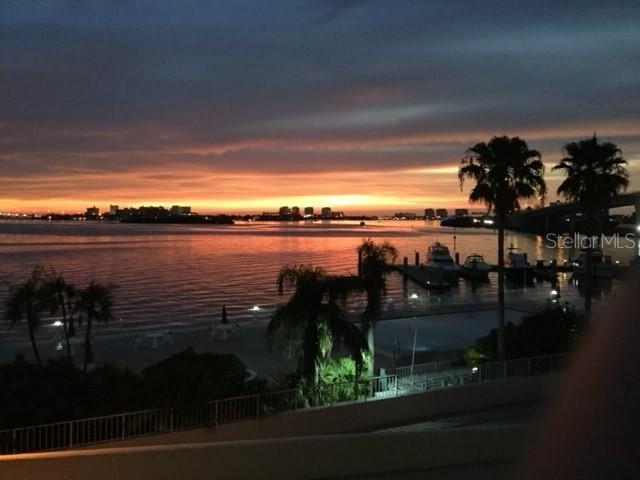
[[[311,394],[300,389],[213,400],[202,405],[160,408],[102,417],[83,418],[0,431],[0,454],[60,450],[84,445],[128,440],[192,428],[251,420],[301,408],[366,402],[430,390],[502,381],[557,371],[564,355],[549,355],[476,367],[433,362],[396,369],[359,382],[321,384]]]

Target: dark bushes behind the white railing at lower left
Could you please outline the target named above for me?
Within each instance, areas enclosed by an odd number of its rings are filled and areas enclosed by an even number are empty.
[[[254,393],[234,355],[192,349],[147,367],[142,374],[103,365],[83,372],[64,360],[45,365],[18,357],[0,365],[0,429],[110,415]]]

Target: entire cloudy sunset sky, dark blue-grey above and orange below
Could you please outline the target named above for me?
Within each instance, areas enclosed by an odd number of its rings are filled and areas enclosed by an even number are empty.
[[[0,210],[466,206],[460,158],[503,134],[552,165],[597,132],[639,190],[639,18],[637,0],[3,0]]]

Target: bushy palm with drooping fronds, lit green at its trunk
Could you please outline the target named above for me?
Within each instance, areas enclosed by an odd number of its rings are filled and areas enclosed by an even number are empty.
[[[354,360],[356,372],[362,369],[367,344],[362,332],[346,319],[337,299],[344,298],[348,282],[328,275],[311,265],[286,265],[277,279],[278,292],[293,288],[289,301],[279,307],[267,326],[267,341],[273,348],[278,334],[289,342],[301,340],[299,370],[308,386],[318,383],[318,365],[333,347],[342,344]]]

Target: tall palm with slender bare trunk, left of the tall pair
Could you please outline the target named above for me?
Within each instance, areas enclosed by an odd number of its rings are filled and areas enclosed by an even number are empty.
[[[504,229],[507,215],[520,208],[520,200],[544,199],[547,188],[540,152],[530,150],[520,137],[493,137],[476,143],[462,159],[458,178],[475,181],[469,194],[484,203],[498,223],[498,357],[504,358]]]

